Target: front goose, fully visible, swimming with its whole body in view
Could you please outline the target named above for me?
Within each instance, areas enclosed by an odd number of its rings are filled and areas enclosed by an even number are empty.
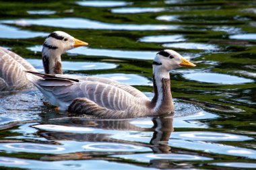
[[[153,61],[152,100],[141,91],[110,79],[74,79],[68,75],[33,72],[29,79],[59,110],[101,118],[158,116],[174,111],[169,71],[183,66],[195,67],[174,50],[162,50],[156,54]]]

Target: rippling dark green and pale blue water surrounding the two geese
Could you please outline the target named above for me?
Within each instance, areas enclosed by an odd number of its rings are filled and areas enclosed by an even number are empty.
[[[159,50],[197,67],[170,72],[169,118],[70,118],[36,89],[1,93],[0,169],[256,168],[256,2],[0,1],[0,46],[39,71],[41,44],[56,30],[90,44],[63,54],[65,73],[148,97]]]

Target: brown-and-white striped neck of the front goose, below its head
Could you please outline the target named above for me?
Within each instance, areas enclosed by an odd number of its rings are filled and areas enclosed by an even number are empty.
[[[154,68],[154,66],[153,66]],[[154,97],[151,105],[154,112],[169,113],[174,111],[172,93],[170,92],[170,74],[168,71],[153,69]]]

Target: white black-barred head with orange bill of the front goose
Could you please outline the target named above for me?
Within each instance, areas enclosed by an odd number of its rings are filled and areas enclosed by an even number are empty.
[[[192,62],[186,60],[174,50],[161,50],[156,54],[153,61],[153,67],[162,71],[171,71],[179,67],[195,67]]]

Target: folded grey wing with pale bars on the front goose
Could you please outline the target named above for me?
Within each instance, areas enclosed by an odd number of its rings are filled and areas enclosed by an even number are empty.
[[[38,74],[38,73],[37,73]],[[115,86],[98,81],[79,81],[67,79],[62,75],[42,75],[42,79],[33,81],[51,103],[67,110],[70,103],[77,98],[96,103],[107,110],[123,111],[134,105],[137,97]],[[63,78],[62,78],[63,77]]]

